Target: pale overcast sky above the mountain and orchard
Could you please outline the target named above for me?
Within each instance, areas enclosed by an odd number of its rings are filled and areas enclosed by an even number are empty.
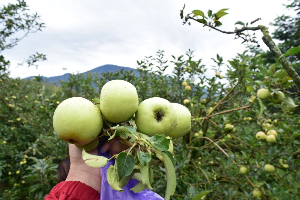
[[[15,3],[14,0],[1,0],[1,5]],[[211,57],[218,53],[223,60],[242,53],[241,40],[234,35],[226,35],[203,28],[201,24],[182,25],[179,12],[184,3],[185,13],[194,9],[207,13],[230,8],[229,14],[221,18],[220,29],[232,31],[236,21],[251,22],[253,25],[269,26],[270,22],[283,13],[282,5],[287,0],[27,0],[29,9],[41,15],[46,28],[24,38],[11,50],[2,53],[11,61],[11,77],[43,75],[46,77],[65,73],[84,72],[105,64],[134,68],[136,60],[155,55],[157,50],[165,50],[166,59],[171,55],[180,56],[189,48],[195,51],[196,59],[212,65]],[[237,25],[238,26],[238,25]],[[270,28],[274,30],[274,28]],[[260,46],[266,50],[261,34]],[[35,67],[15,68],[35,52],[46,54],[47,60]],[[65,70],[63,68],[66,68]],[[225,69],[223,70],[225,73]],[[208,70],[207,75],[212,76]]]

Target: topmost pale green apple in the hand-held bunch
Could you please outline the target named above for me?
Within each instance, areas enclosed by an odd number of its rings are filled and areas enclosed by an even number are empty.
[[[137,89],[125,80],[111,80],[104,84],[100,93],[100,110],[110,122],[128,120],[137,111]]]

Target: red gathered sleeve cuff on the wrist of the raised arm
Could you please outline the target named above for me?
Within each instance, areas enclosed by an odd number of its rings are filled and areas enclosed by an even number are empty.
[[[98,200],[100,193],[80,181],[62,181],[52,188],[45,200]]]

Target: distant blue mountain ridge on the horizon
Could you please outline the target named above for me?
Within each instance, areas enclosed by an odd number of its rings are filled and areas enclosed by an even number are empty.
[[[100,67],[96,67],[92,70],[89,70],[89,71],[85,71],[81,74],[87,74],[88,72],[91,72],[91,74],[94,74],[94,73],[106,73],[106,72],[114,72],[114,71],[121,71],[121,69],[123,69],[124,71],[131,71],[133,70],[135,74],[138,74],[138,71],[134,68],[130,68],[130,67],[121,67],[121,66],[118,66],[118,65],[102,65]],[[42,76],[43,78],[43,81],[44,82],[47,82],[47,83],[57,83],[57,84],[60,84],[60,81],[63,80],[63,81],[67,81],[70,77],[70,73],[66,73],[64,75],[60,75],[60,76],[52,76],[52,77],[45,77],[45,76]],[[29,76],[29,77],[26,77],[25,79],[32,79],[34,76]]]

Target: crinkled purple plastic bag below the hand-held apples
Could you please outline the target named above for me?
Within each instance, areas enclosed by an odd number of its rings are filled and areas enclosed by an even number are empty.
[[[101,146],[104,144],[106,140],[100,140],[100,144],[98,146],[98,155],[99,156],[104,156],[109,158],[110,156],[108,155],[108,152],[101,153]],[[115,164],[115,159],[109,160],[107,162],[107,165],[104,167],[100,168],[100,173],[101,173],[101,193],[100,193],[100,199],[101,200],[109,200],[109,199],[114,199],[114,200],[161,200],[164,199],[160,195],[156,194],[155,192],[152,192],[149,189],[144,189],[143,191],[139,193],[134,193],[130,189],[139,183],[138,180],[135,179],[130,179],[128,184],[123,187],[124,189],[123,192],[118,192],[114,190],[110,184],[107,182],[106,174],[107,174],[107,169],[109,168],[110,165]]]

